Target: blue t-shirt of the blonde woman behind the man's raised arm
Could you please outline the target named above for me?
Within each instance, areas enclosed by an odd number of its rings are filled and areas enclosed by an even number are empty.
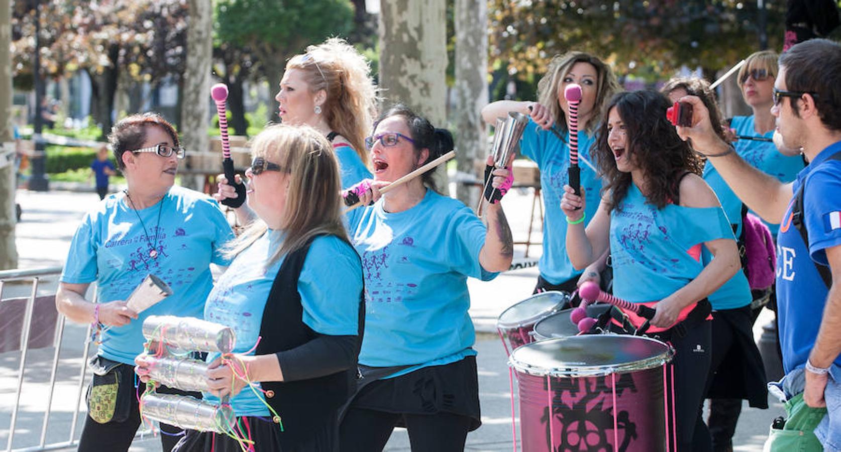
[[[738,135],[764,137],[768,139],[774,136],[773,130],[765,134],[758,134],[754,130],[753,115],[733,117],[730,127],[732,129],[736,129],[736,134]],[[800,155],[782,155],[780,154],[780,151],[777,150],[774,143],[767,141],[739,139],[733,147],[736,148],[738,155],[747,161],[750,166],[753,166],[759,171],[767,173],[770,176],[776,177],[777,180],[783,183],[794,181],[797,173],[801,171],[804,166],[803,159]],[[764,223],[768,225],[772,235],[777,234],[777,229],[780,228],[779,224]]]

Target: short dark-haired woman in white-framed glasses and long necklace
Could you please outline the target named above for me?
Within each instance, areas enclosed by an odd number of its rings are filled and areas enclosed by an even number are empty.
[[[60,313],[93,323],[99,332],[79,444],[79,450],[94,452],[129,449],[140,426],[134,361],[143,351],[144,319],[201,318],[213,285],[210,264],[227,265],[220,248],[233,238],[214,200],[173,187],[184,149],[164,118],[156,113],[124,118],[108,140],[128,188],[106,197],[82,219],[56,293]],[[137,313],[126,306],[126,298],[149,275],[161,278],[173,293]],[[96,303],[86,298],[92,282],[98,286]],[[182,430],[161,425],[161,433],[168,451]]]

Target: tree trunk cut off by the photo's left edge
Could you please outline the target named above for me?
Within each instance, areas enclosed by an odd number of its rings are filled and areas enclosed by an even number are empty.
[[[12,42],[12,6],[9,0],[0,0],[0,42]],[[8,45],[0,45],[0,118],[0,143],[9,143],[13,135],[12,53]],[[18,249],[14,244],[14,227],[17,223],[14,178],[13,164],[0,168],[0,270],[18,266]]]

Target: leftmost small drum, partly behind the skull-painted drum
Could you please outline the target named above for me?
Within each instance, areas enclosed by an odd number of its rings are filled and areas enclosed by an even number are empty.
[[[569,305],[569,293],[541,292],[505,309],[496,320],[505,353],[517,347],[534,342],[532,331],[535,323]]]

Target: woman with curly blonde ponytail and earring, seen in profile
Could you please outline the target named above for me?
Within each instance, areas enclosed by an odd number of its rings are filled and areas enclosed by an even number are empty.
[[[274,98],[284,124],[307,124],[331,141],[341,187],[351,187],[371,177],[365,137],[376,115],[376,92],[368,60],[331,38],[289,59]]]

